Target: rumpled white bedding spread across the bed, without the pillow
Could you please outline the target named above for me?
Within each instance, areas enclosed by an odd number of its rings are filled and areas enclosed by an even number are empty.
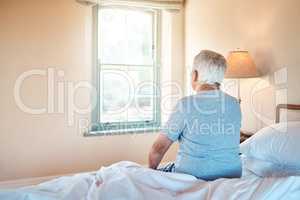
[[[205,182],[193,176],[164,173],[132,162],[103,167],[97,173],[61,177],[15,191],[1,200],[299,200],[300,177],[260,178],[243,171],[240,179]]]

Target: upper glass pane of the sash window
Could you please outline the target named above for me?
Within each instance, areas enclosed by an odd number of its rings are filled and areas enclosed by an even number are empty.
[[[104,64],[153,64],[153,15],[129,9],[99,12],[99,59]]]

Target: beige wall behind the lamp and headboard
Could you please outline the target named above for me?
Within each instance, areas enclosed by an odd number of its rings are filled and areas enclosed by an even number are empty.
[[[271,123],[276,103],[300,104],[299,8],[298,0],[186,1],[186,67],[201,49],[227,55],[241,48],[250,51],[264,75],[241,83],[245,130]],[[274,81],[281,68],[288,71],[285,84]],[[276,74],[285,77],[284,70]]]

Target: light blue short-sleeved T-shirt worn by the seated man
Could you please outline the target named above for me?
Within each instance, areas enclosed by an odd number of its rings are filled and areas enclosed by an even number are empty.
[[[241,176],[241,110],[220,90],[181,99],[162,132],[179,142],[175,172],[204,180]]]

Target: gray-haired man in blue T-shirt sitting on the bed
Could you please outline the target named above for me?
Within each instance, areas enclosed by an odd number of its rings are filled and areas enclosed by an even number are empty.
[[[237,99],[220,90],[225,58],[204,50],[196,56],[192,73],[195,95],[178,103],[149,154],[157,169],[173,142],[179,142],[175,163],[164,169],[203,180],[241,176],[239,141],[241,111]]]

